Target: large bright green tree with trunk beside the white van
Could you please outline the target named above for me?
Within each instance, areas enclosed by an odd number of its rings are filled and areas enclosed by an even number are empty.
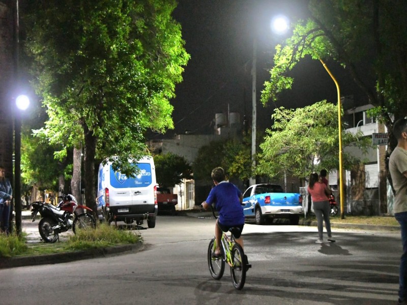
[[[172,128],[169,99],[189,55],[173,0],[31,1],[26,47],[45,133],[84,147],[86,204],[94,206],[95,158],[134,174],[129,156],[146,153],[143,133]]]

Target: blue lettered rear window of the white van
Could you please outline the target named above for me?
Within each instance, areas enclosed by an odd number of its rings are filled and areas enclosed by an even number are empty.
[[[110,185],[113,188],[143,188],[152,183],[151,164],[137,163],[140,173],[136,177],[127,177],[126,175],[115,172],[110,165]]]

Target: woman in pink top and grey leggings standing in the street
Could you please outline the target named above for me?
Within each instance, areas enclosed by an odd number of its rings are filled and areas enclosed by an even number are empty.
[[[323,243],[323,224],[322,221],[325,221],[325,228],[327,229],[328,233],[328,241],[334,242],[335,240],[332,238],[331,232],[331,222],[329,221],[329,212],[331,207],[329,205],[329,198],[328,195],[332,194],[332,192],[328,189],[328,187],[319,181],[319,177],[317,173],[311,173],[309,176],[309,186],[308,186],[308,193],[311,194],[312,203],[314,206],[314,213],[316,216],[317,226],[318,226],[318,235],[319,238],[315,241],[316,243]]]

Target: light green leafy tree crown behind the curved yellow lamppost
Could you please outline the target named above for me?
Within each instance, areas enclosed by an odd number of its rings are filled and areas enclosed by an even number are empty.
[[[267,135],[260,144],[257,173],[269,177],[281,177],[287,173],[306,178],[312,171],[339,168],[336,108],[322,101],[296,110],[275,109],[273,129],[266,130]],[[354,135],[343,130],[343,167],[351,169],[360,160],[346,152],[346,147],[357,147],[366,153],[371,141],[361,132]]]

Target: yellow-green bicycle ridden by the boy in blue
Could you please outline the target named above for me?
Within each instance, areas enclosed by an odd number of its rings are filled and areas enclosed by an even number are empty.
[[[214,215],[215,216],[215,215]],[[212,278],[220,280],[225,271],[225,262],[230,266],[230,276],[233,286],[237,290],[241,290],[245,285],[246,271],[251,268],[251,264],[247,261],[247,256],[244,254],[242,247],[235,242],[232,231],[235,228],[230,228],[230,238],[225,232],[221,237],[221,255],[215,256],[216,240],[215,237],[209,242],[208,247],[208,266]]]

